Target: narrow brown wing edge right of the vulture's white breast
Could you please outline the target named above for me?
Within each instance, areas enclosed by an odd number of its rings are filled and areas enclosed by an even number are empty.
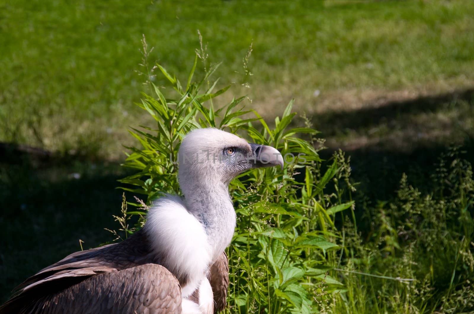
[[[214,313],[219,313],[226,308],[229,285],[229,263],[225,252],[210,267],[208,279],[214,294]]]

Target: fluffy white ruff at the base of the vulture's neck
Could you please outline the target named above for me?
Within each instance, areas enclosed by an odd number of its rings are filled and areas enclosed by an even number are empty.
[[[152,249],[166,256],[164,266],[173,274],[187,276],[181,294],[190,296],[211,262],[211,248],[201,223],[186,210],[180,197],[168,195],[150,208],[144,228]]]

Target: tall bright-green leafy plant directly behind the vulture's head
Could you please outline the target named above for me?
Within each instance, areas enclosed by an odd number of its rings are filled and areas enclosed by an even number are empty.
[[[318,302],[321,296],[342,287],[328,274],[327,259],[328,252],[339,248],[334,243],[338,237],[335,214],[353,202],[342,202],[336,194],[324,192],[343,167],[334,158],[322,171],[319,148],[314,145],[318,132],[309,123],[290,127],[296,114],[292,113],[293,101],[275,118],[273,127],[255,110],[246,110],[245,96],[217,108],[213,99],[230,85],[216,90],[219,79],[210,80],[219,64],[211,65],[202,78],[194,79],[202,54],[196,53],[185,84],[160,64],[155,66],[173,92],[165,96],[163,87],[148,82],[154,96],[143,94],[138,105],[154,118],[155,127],[130,130],[140,147],[127,147],[130,153],[123,165],[137,173],[120,180],[128,185],[123,189],[146,195],[148,201],[161,193],[179,194],[177,152],[184,135],[195,128],[215,127],[279,149],[287,159],[283,171],[255,169],[230,184],[237,228],[228,248],[228,311],[314,312],[326,306]],[[298,137],[301,135],[310,140]],[[304,182],[295,179],[300,172]],[[129,214],[140,215],[143,223],[144,211]]]

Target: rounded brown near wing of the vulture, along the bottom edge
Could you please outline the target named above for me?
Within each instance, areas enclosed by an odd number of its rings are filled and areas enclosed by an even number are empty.
[[[181,313],[181,288],[166,268],[145,264],[102,273],[38,299],[21,297],[16,312],[42,314]]]

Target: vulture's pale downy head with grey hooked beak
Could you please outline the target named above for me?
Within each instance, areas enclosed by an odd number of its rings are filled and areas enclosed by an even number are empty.
[[[182,188],[195,180],[205,183],[202,178],[212,184],[227,185],[235,176],[251,168],[283,168],[283,157],[277,149],[248,143],[237,135],[214,128],[189,132],[182,140],[178,159]]]

